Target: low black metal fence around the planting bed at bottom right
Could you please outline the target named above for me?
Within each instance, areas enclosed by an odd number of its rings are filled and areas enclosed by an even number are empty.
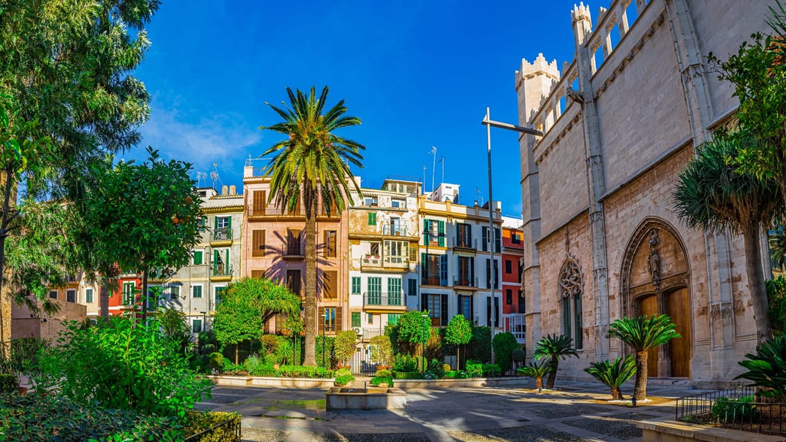
[[[681,397],[675,419],[757,433],[786,434],[786,404],[767,402],[756,395],[757,387],[733,389]]]

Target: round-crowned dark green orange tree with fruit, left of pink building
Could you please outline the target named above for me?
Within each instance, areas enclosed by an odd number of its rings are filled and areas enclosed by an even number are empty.
[[[94,185],[79,206],[84,221],[79,238],[92,247],[84,255],[88,271],[117,263],[142,274],[142,317],[149,309],[149,272],[174,273],[187,265],[200,240],[201,199],[189,177],[190,163],[168,163],[148,148],[144,163],[120,162],[94,168]]]

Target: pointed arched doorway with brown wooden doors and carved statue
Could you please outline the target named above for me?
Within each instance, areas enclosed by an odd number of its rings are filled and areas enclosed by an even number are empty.
[[[689,378],[690,268],[678,232],[657,218],[642,222],[626,247],[621,276],[622,316],[666,314],[682,335],[649,352],[648,376]]]

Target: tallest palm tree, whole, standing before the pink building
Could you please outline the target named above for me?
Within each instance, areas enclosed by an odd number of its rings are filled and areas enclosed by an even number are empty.
[[[317,209],[323,204],[325,211],[334,208],[340,214],[351,198],[351,189],[360,195],[349,164],[362,167],[359,151],[362,144],[339,137],[335,130],[358,126],[357,117],[344,115],[347,108],[340,100],[328,111],[325,104],[328,88],[325,86],[317,97],[314,86],[310,93],[287,88],[289,104],[278,108],[265,103],[283,119],[273,126],[259,129],[273,130],[286,136],[268,148],[263,156],[274,155],[265,170],[270,177],[268,202],[275,202],[287,210],[295,210],[303,202],[306,213],[306,306],[304,323],[306,342],[304,364],[315,366],[317,336]],[[284,102],[282,102],[284,104]],[[332,215],[332,214],[331,214]]]

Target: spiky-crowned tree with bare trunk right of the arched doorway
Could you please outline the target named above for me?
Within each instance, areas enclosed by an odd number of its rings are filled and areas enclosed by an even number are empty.
[[[751,290],[758,342],[770,334],[767,292],[762,272],[759,228],[782,211],[780,187],[744,173],[731,159],[755,141],[739,133],[718,133],[702,144],[677,179],[674,212],[689,227],[741,232],[745,243],[747,284]]]

